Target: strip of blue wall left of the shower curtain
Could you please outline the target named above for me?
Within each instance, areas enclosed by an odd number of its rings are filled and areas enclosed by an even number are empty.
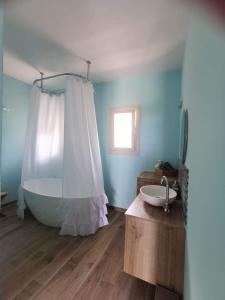
[[[2,115],[2,190],[9,193],[4,203],[17,199],[31,87],[9,76],[3,87],[3,105],[11,110]]]

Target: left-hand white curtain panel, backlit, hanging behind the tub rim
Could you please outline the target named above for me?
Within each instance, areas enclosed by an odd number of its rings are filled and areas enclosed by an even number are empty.
[[[22,186],[26,180],[62,177],[64,147],[64,95],[41,93],[32,89]]]

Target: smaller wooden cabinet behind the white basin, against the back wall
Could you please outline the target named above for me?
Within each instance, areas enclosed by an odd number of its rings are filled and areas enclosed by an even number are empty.
[[[150,185],[150,184],[161,184],[161,175],[155,174],[155,172],[142,172],[137,177],[137,191],[136,195],[139,194],[140,188],[144,185]],[[177,176],[167,176],[170,187],[173,185],[174,181],[177,180]]]

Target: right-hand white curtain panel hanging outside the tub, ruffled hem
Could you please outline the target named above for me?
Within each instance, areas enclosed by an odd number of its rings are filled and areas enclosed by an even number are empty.
[[[65,93],[61,234],[86,235],[108,224],[90,82],[68,78]]]

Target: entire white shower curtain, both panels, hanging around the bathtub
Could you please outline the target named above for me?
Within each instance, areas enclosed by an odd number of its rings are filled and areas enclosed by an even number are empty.
[[[68,77],[65,93],[54,96],[33,87],[21,185],[39,178],[61,179],[61,234],[88,235],[108,224],[90,82]]]

